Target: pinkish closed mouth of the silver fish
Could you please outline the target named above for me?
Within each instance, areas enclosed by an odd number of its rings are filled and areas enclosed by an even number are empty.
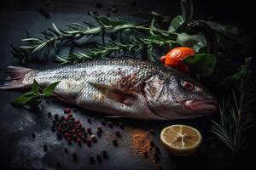
[[[218,101],[216,99],[186,100],[183,105],[186,109],[192,111],[218,111]]]

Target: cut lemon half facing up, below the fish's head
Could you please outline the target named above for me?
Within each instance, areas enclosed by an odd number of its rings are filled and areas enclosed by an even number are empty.
[[[188,156],[201,144],[201,133],[194,127],[172,125],[160,133],[160,140],[176,156]]]

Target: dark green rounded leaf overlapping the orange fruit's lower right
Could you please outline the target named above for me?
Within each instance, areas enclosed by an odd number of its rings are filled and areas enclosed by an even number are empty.
[[[217,59],[212,54],[195,54],[183,59],[183,61],[189,65],[191,73],[209,77],[214,71]]]

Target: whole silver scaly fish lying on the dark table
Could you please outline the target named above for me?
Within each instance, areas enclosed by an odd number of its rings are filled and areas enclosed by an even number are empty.
[[[91,60],[45,71],[12,67],[9,72],[19,69],[21,78],[3,88],[27,88],[34,79],[42,87],[60,82],[54,90],[59,99],[112,116],[170,120],[216,111],[215,99],[200,83],[139,59]],[[191,83],[193,90],[184,89],[182,82]]]

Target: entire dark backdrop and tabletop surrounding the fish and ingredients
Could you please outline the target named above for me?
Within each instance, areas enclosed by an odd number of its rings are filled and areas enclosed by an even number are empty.
[[[131,16],[137,12],[155,11],[160,14],[175,16],[181,14],[179,1],[148,1],[137,0],[136,5],[132,5],[131,1],[96,1],[96,0],[2,0],[0,2],[0,80],[3,82],[5,77],[4,69],[7,65],[20,65],[16,59],[10,54],[10,44],[17,44],[20,39],[25,37],[25,30],[36,36],[45,27],[50,26],[54,22],[58,26],[65,26],[70,22],[79,22],[82,20],[90,21],[88,11],[97,11],[99,14],[111,14],[123,17],[128,20],[137,20]],[[251,1],[203,1],[194,0],[195,18],[218,21],[226,25],[240,26],[253,40],[254,37],[254,16],[255,9]],[[96,3],[102,3],[102,8],[96,8]],[[112,14],[111,8],[116,5],[117,14]],[[49,13],[49,19],[45,18],[42,9]],[[65,52],[64,52],[65,54]],[[247,55],[254,57],[253,47],[249,48]],[[55,64],[30,64],[33,68],[52,67]],[[253,70],[255,61],[253,60]],[[255,72],[255,71],[254,71]],[[177,122],[144,122],[133,120],[121,120],[125,122],[125,131],[122,132],[124,138],[120,141],[118,149],[112,145],[100,142],[96,147],[88,150],[84,147],[82,150],[77,146],[70,148],[81,156],[79,162],[73,163],[71,156],[67,156],[63,152],[63,148],[67,144],[63,141],[57,141],[55,134],[49,130],[50,121],[47,112],[58,112],[62,114],[61,109],[72,105],[66,105],[57,99],[50,99],[47,109],[40,113],[26,111],[24,109],[15,108],[9,105],[9,101],[20,94],[19,92],[0,92],[0,167],[1,169],[55,169],[56,161],[61,162],[62,169],[157,169],[157,165],[142,156],[134,156],[129,152],[129,142],[126,140],[129,136],[129,129],[142,128],[148,130],[154,127],[160,132],[162,127]],[[86,112],[86,113],[84,113]],[[95,116],[96,115],[96,116]],[[92,111],[79,109],[76,116],[84,120],[84,124],[88,125],[86,119],[93,117],[95,120],[90,125],[96,127],[100,124],[101,116]],[[184,158],[169,156],[160,145],[162,152],[160,156],[160,165],[163,169],[239,169],[254,167],[253,154],[255,146],[250,146],[245,152],[238,157],[230,154],[224,145],[211,138],[210,127],[211,118],[205,117],[191,121],[180,121],[183,124],[189,124],[200,129],[203,134],[204,141],[200,150],[194,155]],[[120,120],[113,120],[118,123]],[[114,127],[118,128],[118,127]],[[114,129],[106,128],[107,133],[114,132]],[[31,133],[37,135],[36,139],[31,138]],[[251,138],[251,137],[249,137]],[[156,144],[159,143],[158,136],[152,138]],[[251,138],[252,139],[252,138]],[[255,139],[252,139],[255,144]],[[49,144],[49,151],[44,154],[42,144]],[[95,154],[102,149],[107,149],[110,154],[108,162],[96,165],[90,165],[88,156]],[[79,151],[78,151],[79,150]],[[80,161],[81,160],[81,161]]]

